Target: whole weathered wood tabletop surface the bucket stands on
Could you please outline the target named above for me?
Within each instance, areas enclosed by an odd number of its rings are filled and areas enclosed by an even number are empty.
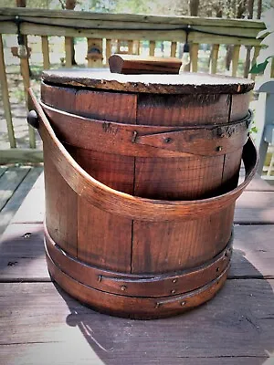
[[[255,178],[253,193],[257,186],[267,191],[265,183]],[[31,195],[26,200],[33,202]],[[263,217],[263,205],[261,209]],[[180,317],[132,321],[96,313],[45,283],[49,277],[42,224],[10,224],[0,245],[1,361],[21,365],[271,363],[273,227],[236,225],[231,279],[228,276],[223,289],[205,306]],[[23,237],[26,233],[31,235]],[[80,352],[75,351],[76,343]]]

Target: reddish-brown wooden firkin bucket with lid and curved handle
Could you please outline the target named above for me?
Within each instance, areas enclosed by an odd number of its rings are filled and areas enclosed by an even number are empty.
[[[193,73],[43,73],[28,120],[44,142],[47,266],[60,287],[130,318],[171,316],[216,294],[235,201],[257,164],[252,88]]]

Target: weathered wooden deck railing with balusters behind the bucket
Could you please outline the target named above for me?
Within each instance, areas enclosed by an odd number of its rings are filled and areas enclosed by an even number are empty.
[[[265,25],[261,21],[240,19],[97,14],[28,8],[0,9],[0,80],[10,144],[8,151],[0,150],[0,163],[23,160],[34,162],[42,159],[41,152],[36,150],[35,131],[31,128],[28,130],[29,149],[23,151],[16,148],[2,34],[19,35],[18,54],[26,92],[31,84],[26,55],[26,36],[41,36],[41,52],[45,69],[50,68],[48,36],[65,37],[65,66],[68,68],[72,66],[73,37],[87,38],[87,60],[90,68],[108,67],[107,60],[113,52],[139,54],[143,41],[149,41],[149,55],[153,56],[156,41],[165,41],[169,42],[171,57],[182,57],[182,45],[189,46],[190,60],[184,70],[193,72],[199,71],[199,45],[210,45],[209,72],[215,74],[220,45],[233,45],[231,75],[237,76],[240,47],[246,46],[246,63],[250,63],[251,49],[254,48],[251,64],[254,63],[258,57],[261,41],[257,36],[262,29],[265,29]]]

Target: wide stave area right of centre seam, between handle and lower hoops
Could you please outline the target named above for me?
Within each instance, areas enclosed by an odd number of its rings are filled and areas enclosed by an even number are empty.
[[[189,222],[134,222],[132,272],[168,272],[212,259],[227,245],[233,214],[232,205]]]

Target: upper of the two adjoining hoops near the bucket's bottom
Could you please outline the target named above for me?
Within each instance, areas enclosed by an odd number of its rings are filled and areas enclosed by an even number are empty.
[[[195,290],[216,279],[229,266],[232,254],[231,235],[225,249],[201,266],[157,275],[111,272],[85,264],[65,253],[50,237],[45,225],[45,246],[56,266],[88,287],[126,297],[169,297]]]

